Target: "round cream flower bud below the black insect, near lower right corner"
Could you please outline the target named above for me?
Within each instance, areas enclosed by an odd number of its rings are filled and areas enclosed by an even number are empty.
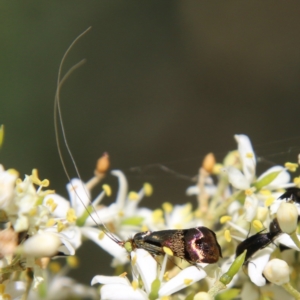
[[[284,260],[278,258],[274,258],[267,263],[263,274],[270,282],[277,285],[282,285],[290,281],[289,265]]]

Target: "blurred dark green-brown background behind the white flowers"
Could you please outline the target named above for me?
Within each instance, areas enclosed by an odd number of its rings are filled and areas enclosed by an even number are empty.
[[[159,207],[164,201],[195,203],[185,196],[191,182],[159,164],[192,177],[207,152],[221,160],[235,149],[236,133],[250,136],[262,169],[295,161],[299,10],[298,1],[2,1],[1,163],[22,177],[38,168],[66,196],[53,99],[60,60],[89,26],[64,71],[82,58],[87,63],[61,93],[83,179],[108,151],[112,168],[126,173],[131,189],[145,181],[154,186],[142,205]],[[103,269],[107,257],[90,245],[82,252],[86,267],[74,276],[89,283],[109,274]]]

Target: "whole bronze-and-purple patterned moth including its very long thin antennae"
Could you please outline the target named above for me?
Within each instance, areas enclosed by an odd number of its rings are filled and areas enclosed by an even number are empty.
[[[67,172],[67,169],[64,164],[62,157],[59,138],[58,138],[58,124],[61,127],[63,141],[67,148],[68,154],[73,162],[76,173],[79,176],[79,172],[71,153],[70,147],[66,139],[66,133],[63,126],[61,109],[60,109],[60,88],[66,78],[70,73],[80,66],[83,61],[77,63],[74,67],[66,73],[64,77],[61,78],[62,65],[69,51],[73,45],[89,30],[88,28],[82,34],[80,34],[73,43],[69,46],[66,53],[64,54],[62,61],[59,66],[58,71],[58,81],[57,81],[57,91],[55,95],[55,112],[54,112],[54,122],[55,122],[55,133],[56,133],[56,143],[61,159],[61,163],[64,167],[64,171],[70,181],[70,176]],[[79,176],[80,178],[80,176]],[[87,210],[91,215],[90,211]],[[95,221],[95,220],[94,220]],[[95,221],[96,225],[97,222]],[[110,231],[106,228],[105,224],[101,224],[101,229],[103,232],[119,246],[124,247],[128,252],[133,251],[134,249],[140,248],[148,251],[150,254],[156,255],[165,255],[166,253],[171,254],[175,257],[179,257],[188,261],[191,264],[196,263],[215,263],[222,257],[221,247],[217,241],[216,234],[206,228],[206,227],[195,227],[190,229],[183,230],[162,230],[162,231],[145,231],[139,232],[133,236],[133,238],[128,239],[127,241],[121,241],[113,236]]]

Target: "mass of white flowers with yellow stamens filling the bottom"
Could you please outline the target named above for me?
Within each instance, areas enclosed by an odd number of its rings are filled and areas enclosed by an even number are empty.
[[[119,170],[110,172],[119,182],[115,201],[101,205],[111,195],[106,184],[91,200],[108,173],[107,154],[87,183],[68,183],[69,200],[47,190],[49,181],[36,170],[21,180],[0,166],[0,298],[99,298],[96,289],[66,276],[70,259],[62,269],[51,260],[72,258],[90,239],[119,272],[92,279],[102,285],[101,299],[300,299],[300,179],[291,179],[298,164],[272,166],[258,176],[250,139],[235,139],[237,150],[222,163],[205,157],[186,191],[196,205],[163,203],[156,210],[140,207],[152,186],[128,192]]]

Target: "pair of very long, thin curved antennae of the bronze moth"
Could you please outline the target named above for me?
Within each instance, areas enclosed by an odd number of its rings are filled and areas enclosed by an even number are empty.
[[[61,79],[61,73],[62,73],[62,66],[66,60],[66,57],[67,55],[69,54],[70,50],[72,49],[72,47],[76,44],[76,42],[81,38],[83,37],[89,30],[91,30],[92,27],[89,27],[87,28],[84,32],[82,32],[72,43],[71,45],[68,47],[67,51],[65,52],[61,62],[60,62],[60,65],[59,65],[59,68],[58,68],[58,77],[57,77],[57,89],[56,89],[56,93],[55,93],[55,99],[54,99],[54,127],[55,127],[55,139],[56,139],[56,145],[57,145],[57,150],[58,150],[58,154],[59,154],[59,158],[60,158],[60,161],[61,161],[61,164],[63,166],[63,169],[64,169],[64,172],[69,180],[69,182],[71,183],[71,176],[67,170],[67,167],[65,165],[65,162],[64,162],[64,159],[63,159],[63,155],[62,155],[62,151],[61,151],[61,147],[60,147],[60,142],[59,142],[59,134],[58,134],[58,123],[60,124],[60,129],[61,129],[61,132],[62,132],[62,136],[63,136],[63,140],[64,140],[64,144],[66,146],[66,149],[67,149],[67,152],[68,152],[68,155],[72,161],[72,164],[75,168],[75,171],[76,171],[76,174],[78,176],[78,178],[81,180],[81,177],[80,177],[80,173],[79,173],[79,170],[78,170],[78,167],[76,165],[76,161],[73,157],[73,154],[72,154],[72,151],[71,151],[71,148],[69,146],[69,143],[67,141],[67,136],[66,136],[66,132],[65,132],[65,127],[64,127],[64,123],[63,123],[63,118],[62,118],[62,112],[61,112],[61,107],[60,107],[60,89],[62,87],[62,85],[64,84],[64,82],[66,81],[66,79],[71,75],[71,73],[73,73],[77,68],[79,68],[80,66],[82,66],[84,63],[85,63],[85,59],[81,60],[80,62],[78,62],[77,64],[75,64],[73,67],[71,67],[67,73],[63,76],[63,78]],[[82,181],[82,180],[81,180]],[[72,184],[72,183],[71,183]],[[77,194],[76,192],[76,189],[74,188],[74,192],[76,193],[77,197],[80,199],[79,195]],[[86,194],[88,194],[86,192]],[[88,211],[90,217],[92,218],[92,220],[95,222],[95,224],[98,226],[98,227],[101,227],[101,229],[103,230],[103,232],[108,236],[110,237],[113,241],[115,241],[116,243],[118,244],[122,244],[121,241],[119,241],[115,236],[113,236],[110,231],[107,229],[107,227],[105,226],[104,223],[101,222],[101,225],[100,226],[97,221],[94,219],[94,217],[92,216],[91,212],[89,211],[88,207],[81,201],[82,205],[84,206],[84,208]],[[91,205],[93,211],[95,212],[95,214],[97,215],[97,211],[96,209],[94,208],[93,205]],[[98,217],[99,218],[99,217]]]

